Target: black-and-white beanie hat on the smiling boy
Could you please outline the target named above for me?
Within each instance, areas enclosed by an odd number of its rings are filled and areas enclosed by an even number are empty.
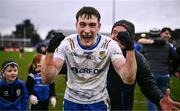
[[[2,63],[2,71],[4,71],[9,65],[14,65],[16,67],[19,67],[19,65],[16,63],[16,61],[9,59],[9,60],[5,60]]]

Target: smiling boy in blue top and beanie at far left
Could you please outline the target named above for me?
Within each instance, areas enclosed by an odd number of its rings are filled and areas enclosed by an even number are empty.
[[[5,60],[0,80],[0,110],[28,110],[28,92],[25,83],[18,79],[18,64]]]

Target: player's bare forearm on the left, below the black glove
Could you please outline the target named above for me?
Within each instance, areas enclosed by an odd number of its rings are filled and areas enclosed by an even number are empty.
[[[57,61],[54,60],[53,53],[47,53],[42,66],[42,80],[45,84],[50,84],[58,74]]]

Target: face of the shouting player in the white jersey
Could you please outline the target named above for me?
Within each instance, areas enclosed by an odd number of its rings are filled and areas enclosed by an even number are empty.
[[[76,29],[80,36],[80,42],[85,47],[90,47],[96,42],[96,36],[100,30],[101,24],[95,16],[90,18],[80,16],[76,22]]]

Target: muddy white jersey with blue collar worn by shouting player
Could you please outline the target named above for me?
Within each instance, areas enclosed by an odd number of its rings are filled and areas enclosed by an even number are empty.
[[[118,43],[110,37],[97,35],[89,48],[80,43],[77,34],[67,36],[56,49],[54,57],[66,60],[67,88],[65,99],[90,104],[108,98],[106,78],[110,61],[124,59]]]

